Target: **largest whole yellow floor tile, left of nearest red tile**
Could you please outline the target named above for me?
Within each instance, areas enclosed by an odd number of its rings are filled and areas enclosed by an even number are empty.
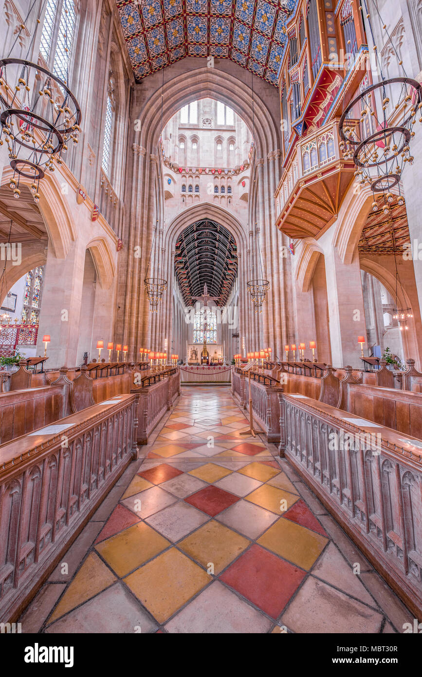
[[[180,609],[211,580],[185,554],[171,548],[124,579],[160,623]]]

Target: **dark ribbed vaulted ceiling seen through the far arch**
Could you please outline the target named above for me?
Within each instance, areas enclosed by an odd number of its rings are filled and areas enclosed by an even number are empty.
[[[185,305],[202,296],[204,284],[217,305],[225,305],[237,276],[235,238],[216,221],[191,223],[177,239],[174,268]]]

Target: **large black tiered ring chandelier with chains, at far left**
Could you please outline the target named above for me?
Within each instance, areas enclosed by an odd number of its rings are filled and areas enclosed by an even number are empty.
[[[26,59],[15,59],[10,53],[35,5],[30,6],[24,23],[11,46],[9,56],[0,59],[0,146],[7,142],[11,169],[14,175],[9,187],[15,198],[20,196],[20,178],[30,179],[30,191],[39,202],[39,181],[47,169],[55,170],[62,164],[62,154],[68,150],[69,141],[78,143],[82,118],[76,98],[68,87],[69,47],[67,9],[64,0],[66,81],[47,68],[28,61],[34,42],[32,35]],[[45,4],[45,3],[44,3]],[[36,26],[39,24],[37,19]]]

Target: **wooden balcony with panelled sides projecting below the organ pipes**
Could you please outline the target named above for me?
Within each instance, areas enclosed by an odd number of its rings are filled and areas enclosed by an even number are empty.
[[[291,238],[319,238],[335,221],[354,171],[339,149],[338,120],[301,137],[275,191],[277,228]]]

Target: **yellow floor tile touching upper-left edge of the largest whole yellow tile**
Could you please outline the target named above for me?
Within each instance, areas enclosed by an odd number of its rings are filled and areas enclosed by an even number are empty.
[[[145,522],[139,522],[98,543],[95,548],[118,576],[124,576],[169,545],[166,538]]]

